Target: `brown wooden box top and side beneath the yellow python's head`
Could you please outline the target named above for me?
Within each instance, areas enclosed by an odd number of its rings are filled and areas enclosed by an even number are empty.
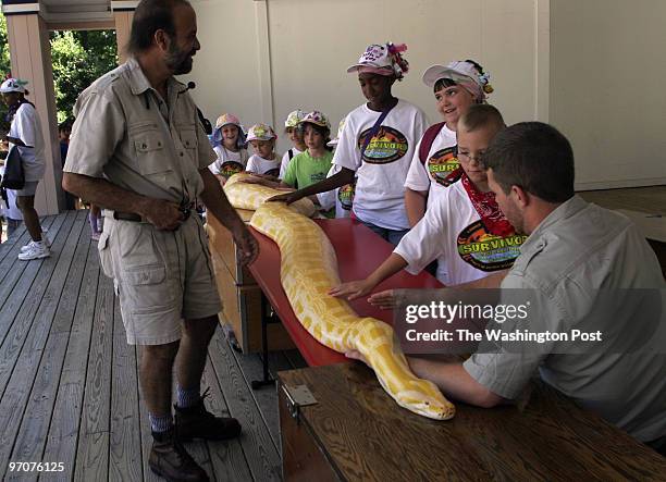
[[[287,481],[666,479],[666,458],[545,385],[522,410],[457,404],[435,421],[398,407],[361,363],[279,378]],[[294,419],[283,384],[307,385],[317,405]]]

